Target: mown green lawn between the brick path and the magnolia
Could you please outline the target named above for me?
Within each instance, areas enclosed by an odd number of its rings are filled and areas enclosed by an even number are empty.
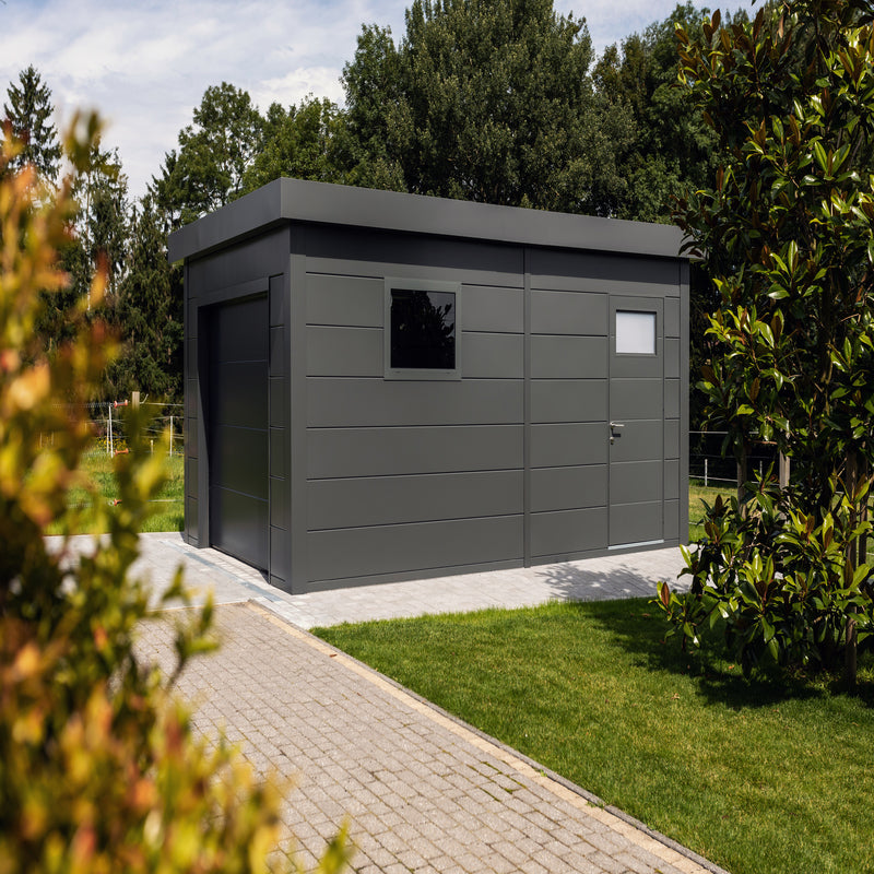
[[[874,872],[871,663],[852,698],[664,631],[646,600],[316,629],[733,874]]]

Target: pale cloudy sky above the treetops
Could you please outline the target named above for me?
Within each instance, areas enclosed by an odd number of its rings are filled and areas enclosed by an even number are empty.
[[[33,64],[59,129],[78,108],[107,122],[133,198],[145,193],[210,85],[262,109],[307,94],[343,103],[340,75],[363,24],[404,33],[410,0],[0,0],[0,102]],[[675,0],[555,0],[584,17],[597,52],[665,19]],[[702,5],[696,2],[696,5]],[[713,2],[723,10],[749,0]],[[0,104],[1,106],[1,104]]]

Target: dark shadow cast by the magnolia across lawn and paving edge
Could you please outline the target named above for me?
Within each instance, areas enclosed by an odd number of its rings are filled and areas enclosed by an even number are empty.
[[[700,648],[683,650],[677,636],[666,637],[671,626],[656,599],[656,580],[627,567],[606,572],[572,566],[551,567],[545,577],[556,595],[607,630],[624,652],[648,671],[659,671],[693,678],[697,693],[708,702],[734,710],[770,707],[787,700],[804,700],[847,694],[842,680],[826,672],[804,674],[781,669],[761,669],[743,675],[740,663],[731,658],[721,633],[702,635]],[[688,588],[688,577],[668,580],[675,590]],[[648,597],[606,600],[604,592],[617,587],[628,595],[650,589]],[[874,658],[865,653],[860,662],[860,680],[854,697],[874,707]]]

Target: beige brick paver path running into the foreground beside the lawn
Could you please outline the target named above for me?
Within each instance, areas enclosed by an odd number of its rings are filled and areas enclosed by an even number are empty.
[[[263,607],[216,614],[223,646],[180,692],[199,731],[296,781],[284,819],[306,867],[349,816],[362,874],[718,871]],[[168,626],[141,642],[172,663]]]

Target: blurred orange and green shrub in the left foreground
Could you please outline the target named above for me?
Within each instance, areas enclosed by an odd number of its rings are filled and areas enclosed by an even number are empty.
[[[93,143],[68,141],[78,169]],[[78,530],[71,489],[95,489],[80,464],[93,440],[84,402],[116,353],[88,298],[66,312],[72,340],[51,359],[34,330],[40,292],[68,282],[57,251],[75,213],[71,188],[66,179],[54,196],[32,167],[0,180],[0,872],[293,870],[287,859],[271,864],[275,784],[225,744],[209,752],[170,697],[173,676],[213,646],[211,605],[177,627],[169,680],[137,659],[135,629],[150,616],[129,572],[164,481],[142,411],[127,422],[130,452],[115,461],[120,505],[110,513],[95,503],[108,536],[79,559],[43,538],[51,524]],[[106,284],[97,271],[92,306]],[[40,447],[40,434],[54,439]],[[170,598],[187,601],[180,574]],[[341,835],[322,871],[346,857]]]

